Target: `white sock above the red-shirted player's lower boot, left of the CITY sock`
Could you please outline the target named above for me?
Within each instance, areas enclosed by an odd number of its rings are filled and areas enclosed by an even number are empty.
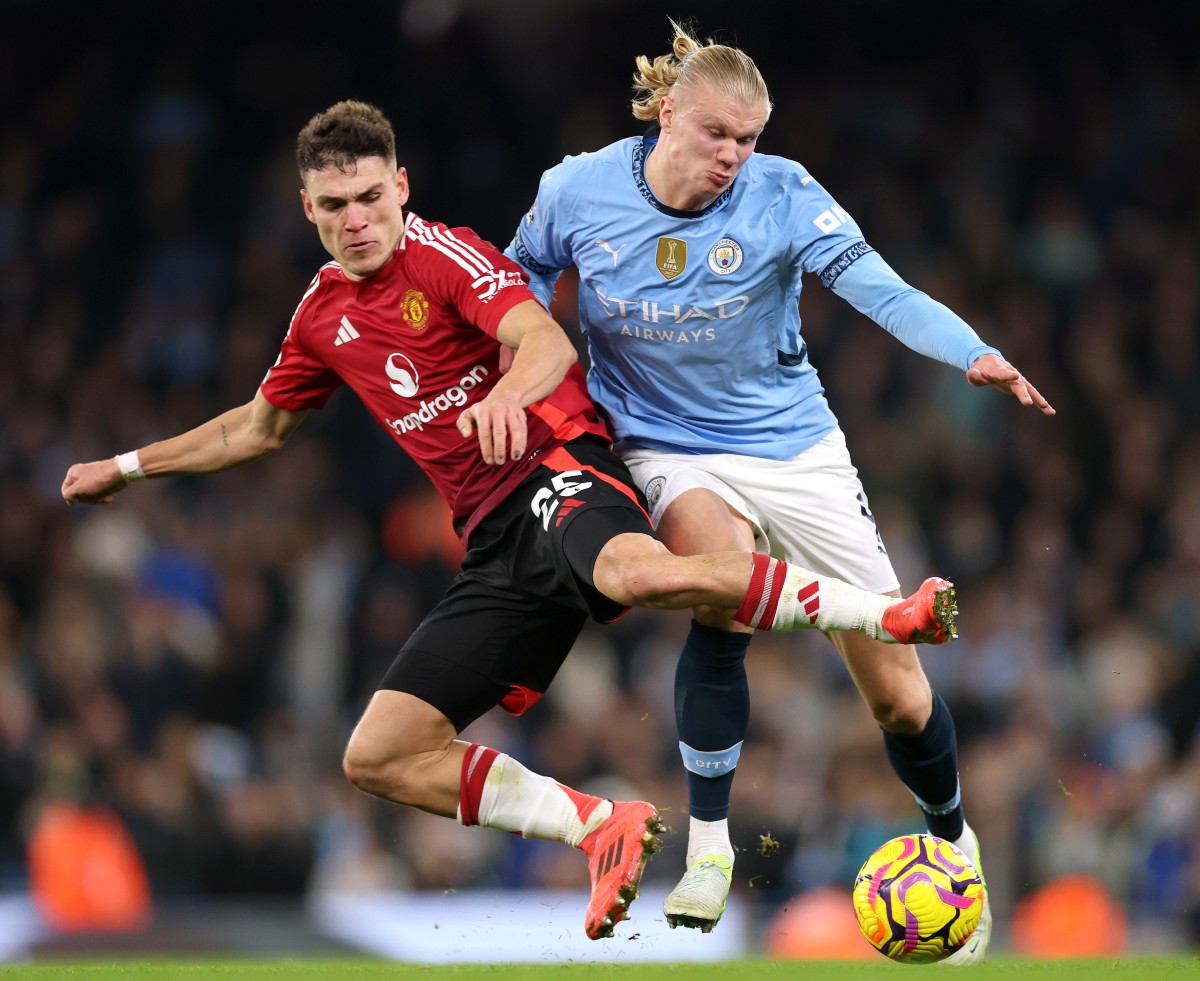
[[[613,805],[564,787],[498,753],[484,781],[476,811],[475,823],[481,827],[578,848],[612,814]]]

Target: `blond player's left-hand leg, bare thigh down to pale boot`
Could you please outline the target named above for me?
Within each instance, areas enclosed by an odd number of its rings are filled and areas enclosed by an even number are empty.
[[[750,523],[713,492],[695,487],[666,507],[658,525],[678,555],[754,550]],[[730,794],[750,724],[745,652],[751,630],[712,607],[697,607],[676,663],[676,733],[688,780],[684,875],[662,903],[672,927],[708,933],[725,913],[733,880]]]

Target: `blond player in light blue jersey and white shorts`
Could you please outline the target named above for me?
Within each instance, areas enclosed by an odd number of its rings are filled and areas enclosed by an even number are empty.
[[[547,305],[562,270],[577,267],[590,393],[672,550],[770,552],[898,595],[800,336],[803,273],[972,385],[1054,409],[966,323],[905,283],[800,164],[755,154],[772,104],[754,61],[672,25],[671,53],[638,58],[635,74],[634,115],[658,125],[547,170],[508,252]],[[829,637],[930,832],[978,863],[954,723],[916,649]],[[680,655],[677,726],[691,817],[686,872],[664,905],[672,926],[708,932],[725,910],[749,639],[697,608]],[[952,962],[980,959],[990,925],[985,908]]]

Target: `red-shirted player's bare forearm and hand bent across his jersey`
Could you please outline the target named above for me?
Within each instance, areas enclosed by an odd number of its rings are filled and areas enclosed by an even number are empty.
[[[563,329],[534,300],[508,311],[496,338],[516,349],[512,366],[486,398],[463,410],[458,432],[463,437],[478,433],[484,462],[502,464],[524,455],[526,407],[554,391],[578,355]]]

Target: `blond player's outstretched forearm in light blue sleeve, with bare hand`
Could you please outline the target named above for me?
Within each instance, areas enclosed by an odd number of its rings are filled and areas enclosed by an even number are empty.
[[[979,339],[970,324],[908,285],[877,253],[856,259],[838,275],[830,289],[914,351],[965,371],[972,385],[990,385],[1015,396],[1022,405],[1034,405],[1045,415],[1055,414],[1025,375]]]

